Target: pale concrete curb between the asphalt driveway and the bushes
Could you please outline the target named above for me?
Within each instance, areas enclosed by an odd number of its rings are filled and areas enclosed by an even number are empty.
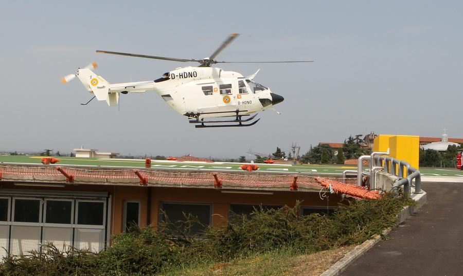
[[[412,191],[413,192],[413,191]],[[415,213],[426,203],[426,192],[422,191],[420,194],[413,194],[413,200],[416,201],[416,207],[406,206],[402,209],[400,214],[397,215],[397,225],[404,222],[409,216]],[[392,231],[392,228],[387,228],[383,231],[383,235],[389,234]],[[374,235],[370,240],[365,241],[361,245],[355,246],[350,252],[348,252],[341,260],[337,261],[332,265],[328,270],[320,274],[320,276],[336,276],[340,275],[349,264],[351,264],[355,259],[363,255],[371,247],[376,245],[381,240],[381,235]]]

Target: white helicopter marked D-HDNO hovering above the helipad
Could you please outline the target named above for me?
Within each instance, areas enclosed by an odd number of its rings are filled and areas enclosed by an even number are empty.
[[[225,71],[220,68],[211,67],[211,65],[217,63],[298,63],[313,61],[216,61],[215,58],[217,55],[237,36],[237,33],[231,34],[210,57],[202,60],[96,51],[97,53],[118,54],[129,57],[200,63],[198,67],[175,68],[172,71],[164,73],[161,78],[154,81],[110,84],[92,71],[92,69],[96,68],[96,63],[92,63],[85,68],[78,68],[75,74],[67,75],[61,81],[67,83],[77,76],[85,88],[94,94],[94,97],[90,101],[97,98],[98,101],[106,101],[110,106],[118,104],[119,93],[143,93],[148,90],[154,90],[176,112],[188,117],[190,123],[196,124],[195,127],[251,126],[256,124],[260,119],[252,121],[257,114],[254,116],[250,114],[269,108],[277,112],[273,108],[273,105],[282,102],[284,100],[283,97],[272,93],[268,87],[254,81],[254,77],[256,77],[260,69],[251,76],[243,77],[238,72]],[[90,101],[82,105],[86,105]],[[242,118],[245,116],[250,117]],[[204,120],[205,118],[219,117],[235,117],[235,119]]]

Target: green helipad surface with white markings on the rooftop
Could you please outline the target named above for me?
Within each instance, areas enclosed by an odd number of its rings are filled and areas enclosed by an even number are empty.
[[[10,164],[40,164],[43,156],[10,156],[0,155],[1,163]],[[57,165],[79,165],[101,168],[145,168],[144,159],[99,159],[99,158],[76,158],[76,157],[55,157],[61,159]],[[151,168],[159,170],[175,171],[228,171],[242,172],[242,163],[227,162],[186,162],[152,160]],[[355,170],[357,167],[351,165],[290,165],[290,164],[258,164],[259,172],[269,173],[298,173],[314,175],[342,175],[344,170]],[[463,171],[446,168],[420,168],[423,176],[430,177],[462,177]]]

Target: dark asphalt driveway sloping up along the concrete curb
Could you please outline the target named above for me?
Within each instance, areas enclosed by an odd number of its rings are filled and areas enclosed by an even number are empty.
[[[422,188],[428,203],[341,275],[463,275],[463,184]]]

